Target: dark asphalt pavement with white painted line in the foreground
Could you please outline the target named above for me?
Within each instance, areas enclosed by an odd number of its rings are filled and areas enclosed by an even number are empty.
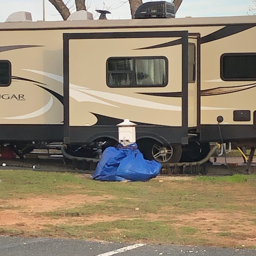
[[[0,256],[255,256],[256,250],[0,236]]]

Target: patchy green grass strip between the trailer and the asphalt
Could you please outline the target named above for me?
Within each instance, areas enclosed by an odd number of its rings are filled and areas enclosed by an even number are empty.
[[[70,218],[68,224],[48,224],[44,225],[43,230],[30,231],[24,231],[19,226],[6,227],[6,229],[0,229],[0,235],[212,245],[215,241],[208,238],[207,233],[200,230],[196,223],[183,223],[181,219],[177,226],[175,219],[191,213],[196,215],[200,211],[225,212],[234,216],[236,212],[243,212],[244,216],[256,214],[256,186],[252,182],[246,182],[248,177],[252,177],[250,175],[203,176],[186,181],[164,180],[163,182],[155,179],[148,182],[127,183],[99,182],[84,179],[75,173],[56,172],[0,171],[0,177],[2,179],[0,200],[6,204],[6,206],[1,205],[0,212],[18,209],[8,205],[8,199],[72,194],[111,196],[99,202],[84,202],[72,208],[62,207],[54,211],[39,212],[33,216],[53,220]],[[94,224],[84,224],[82,219],[88,223],[91,216],[95,218],[102,216],[103,220],[106,218],[106,222],[100,220],[101,222]],[[108,221],[108,216],[115,216],[116,220]],[[76,222],[73,223],[73,220]],[[219,224],[212,225],[218,227]],[[256,228],[255,219],[252,218],[250,225]],[[223,230],[225,232],[222,232]],[[238,236],[233,234],[232,230],[220,227],[219,232],[213,236],[225,236],[231,239],[235,235]],[[246,237],[246,235],[243,236]],[[224,245],[225,239],[222,239]]]

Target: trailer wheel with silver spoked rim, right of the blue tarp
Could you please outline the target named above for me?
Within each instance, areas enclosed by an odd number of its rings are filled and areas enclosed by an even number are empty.
[[[182,154],[180,145],[163,145],[153,139],[141,140],[137,144],[145,159],[156,160],[160,163],[177,163],[180,161]]]

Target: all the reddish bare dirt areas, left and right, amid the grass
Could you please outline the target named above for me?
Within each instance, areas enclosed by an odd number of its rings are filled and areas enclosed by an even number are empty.
[[[177,179],[177,178],[175,178]],[[183,178],[184,179],[184,178]],[[105,216],[104,214],[95,214],[90,217],[61,217],[51,218],[40,215],[40,212],[60,210],[62,208],[74,208],[85,203],[94,204],[103,202],[106,199],[113,199],[113,196],[87,196],[72,194],[66,196],[35,197],[26,199],[0,199],[0,228],[4,229],[22,229],[25,231],[39,231],[44,229],[47,224],[71,224],[88,225],[96,222],[132,220],[133,216],[124,214],[113,214]],[[237,195],[239,199],[239,195]],[[241,203],[243,198],[240,198]],[[239,203],[239,200],[238,200]],[[244,203],[243,203],[244,204]],[[250,207],[250,205],[247,205]],[[170,209],[168,209],[170,210]],[[172,227],[179,229],[180,226],[194,227],[200,231],[202,238],[212,240],[212,245],[223,244],[223,239],[227,246],[241,244],[242,246],[256,246],[256,229],[252,225],[255,216],[244,215],[242,212],[228,213],[222,211],[198,211],[184,215],[164,215],[161,213],[148,213],[145,220],[163,220],[163,218],[172,218]],[[225,232],[232,231],[235,236],[225,235]],[[223,235],[216,235],[222,233]],[[211,239],[212,237],[212,239]],[[209,244],[210,245],[210,244]]]

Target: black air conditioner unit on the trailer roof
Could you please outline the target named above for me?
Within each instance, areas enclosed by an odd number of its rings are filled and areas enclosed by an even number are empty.
[[[166,1],[141,4],[134,13],[134,19],[175,18],[175,5]]]

